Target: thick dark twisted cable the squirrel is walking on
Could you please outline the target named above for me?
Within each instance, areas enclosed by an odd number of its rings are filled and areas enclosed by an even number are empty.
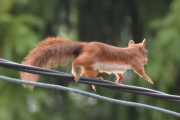
[[[73,79],[73,76],[68,73],[34,67],[34,66],[22,65],[22,64],[18,64],[12,61],[4,60],[4,59],[0,59],[0,66],[6,67],[9,69],[18,70],[18,71],[51,76],[51,77],[55,77],[61,80],[63,79],[69,82],[75,82]],[[96,86],[101,86],[101,87],[105,87],[105,88],[109,88],[109,89],[113,89],[117,91],[141,94],[141,95],[146,95],[146,96],[150,96],[150,97],[154,97],[154,98],[158,98],[162,100],[167,100],[167,101],[172,101],[172,102],[178,102],[178,103],[180,102],[180,96],[177,96],[177,95],[169,95],[160,91],[147,89],[143,87],[116,84],[114,82],[107,81],[107,80],[98,80],[98,79],[93,79],[93,78],[88,78],[88,77],[80,77],[80,81],[78,83],[89,84],[89,85],[93,84]]]

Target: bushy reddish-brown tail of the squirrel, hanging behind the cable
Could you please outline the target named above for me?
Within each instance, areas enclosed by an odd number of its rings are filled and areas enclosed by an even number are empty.
[[[78,55],[82,46],[82,43],[63,38],[47,38],[30,51],[22,64],[43,68],[65,65]],[[38,81],[39,78],[39,75],[27,72],[21,72],[20,76],[22,80],[33,82]],[[30,86],[30,89],[33,89],[33,86]]]

